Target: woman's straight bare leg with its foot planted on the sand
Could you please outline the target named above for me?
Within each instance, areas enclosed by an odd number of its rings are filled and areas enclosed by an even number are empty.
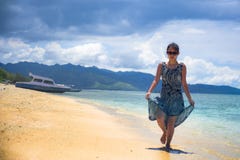
[[[166,143],[166,149],[170,149],[170,143],[172,141],[173,133],[174,133],[174,124],[177,119],[177,116],[171,116],[168,118],[167,123],[167,143]]]

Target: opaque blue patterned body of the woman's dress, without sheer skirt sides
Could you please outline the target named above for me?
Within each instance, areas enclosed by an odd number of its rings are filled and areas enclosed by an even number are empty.
[[[178,116],[184,110],[182,68],[183,63],[175,68],[168,68],[165,62],[162,63],[161,110],[167,116]]]

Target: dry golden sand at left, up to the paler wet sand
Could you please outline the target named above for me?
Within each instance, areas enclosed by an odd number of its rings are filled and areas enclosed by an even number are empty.
[[[0,86],[0,159],[169,159],[130,126],[94,106]]]

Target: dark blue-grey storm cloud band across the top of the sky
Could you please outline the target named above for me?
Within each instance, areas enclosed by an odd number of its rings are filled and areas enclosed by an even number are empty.
[[[0,35],[30,40],[126,35],[177,19],[239,21],[239,7],[237,0],[2,0]]]

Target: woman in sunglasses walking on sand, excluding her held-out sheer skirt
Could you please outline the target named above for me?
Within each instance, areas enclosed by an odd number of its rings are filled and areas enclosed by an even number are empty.
[[[149,87],[145,98],[150,98],[151,92],[162,76],[161,101],[163,108],[161,112],[157,113],[157,123],[163,131],[160,141],[162,144],[166,143],[166,150],[169,151],[171,149],[170,143],[174,133],[175,121],[184,110],[182,87],[192,106],[194,106],[194,101],[191,98],[186,81],[186,66],[177,61],[179,47],[176,43],[168,45],[167,55],[168,62],[162,62],[158,65],[155,79]],[[167,119],[166,123],[165,119]]]

